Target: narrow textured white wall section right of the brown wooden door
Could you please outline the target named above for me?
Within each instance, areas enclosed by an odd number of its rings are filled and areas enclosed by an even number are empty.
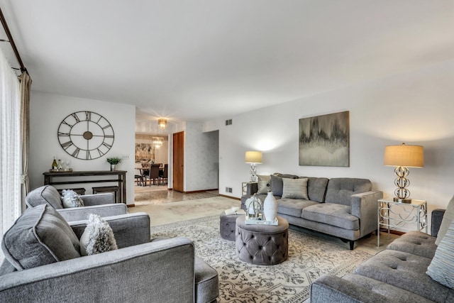
[[[185,123],[185,192],[218,188],[218,154],[218,131],[203,133],[201,123]]]

